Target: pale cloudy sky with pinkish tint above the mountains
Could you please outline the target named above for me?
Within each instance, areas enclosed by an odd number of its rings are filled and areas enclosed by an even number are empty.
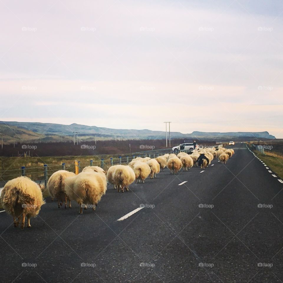
[[[283,138],[282,1],[0,1],[0,120]]]

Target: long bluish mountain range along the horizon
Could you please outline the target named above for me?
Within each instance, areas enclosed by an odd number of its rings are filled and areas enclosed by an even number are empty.
[[[11,140],[36,140],[42,141],[70,141],[73,138],[73,132],[79,132],[80,140],[91,141],[95,136],[99,139],[165,139],[165,131],[151,131],[151,130],[135,130],[135,129],[109,129],[96,126],[85,126],[79,124],[62,125],[50,123],[29,123],[29,122],[4,122],[0,121],[0,136],[4,136],[4,142],[11,142]],[[21,137],[19,136],[21,135]],[[171,132],[171,138],[208,138],[215,141],[231,140],[236,138],[262,138],[275,139],[275,136],[265,132],[200,132],[193,131],[191,134],[182,134],[180,132]]]

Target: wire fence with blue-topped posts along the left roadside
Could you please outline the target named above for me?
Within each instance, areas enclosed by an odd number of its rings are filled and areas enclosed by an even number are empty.
[[[108,168],[115,164],[128,164],[136,157],[151,157],[155,158],[165,153],[172,153],[171,149],[159,149],[159,150],[150,150],[144,152],[135,152],[128,155],[121,155],[119,157],[111,157],[108,159],[100,159],[93,160],[91,159],[89,162],[80,162],[78,160],[78,172],[81,172],[86,166],[99,166],[104,170],[108,170]],[[4,187],[5,183],[9,180],[12,180],[19,176],[26,176],[35,182],[44,182],[45,187],[47,186],[47,181],[49,177],[58,170],[67,170],[70,172],[76,171],[75,160],[72,163],[62,163],[62,164],[44,164],[43,166],[38,167],[25,167],[22,166],[19,169],[11,169],[11,170],[0,170],[0,187]]]

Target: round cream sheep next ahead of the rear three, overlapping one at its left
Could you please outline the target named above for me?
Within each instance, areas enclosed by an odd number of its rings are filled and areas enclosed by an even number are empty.
[[[112,174],[112,180],[114,186],[118,188],[118,192],[120,189],[124,192],[124,188],[129,191],[129,185],[131,185],[135,179],[136,175],[130,166],[116,165]]]

